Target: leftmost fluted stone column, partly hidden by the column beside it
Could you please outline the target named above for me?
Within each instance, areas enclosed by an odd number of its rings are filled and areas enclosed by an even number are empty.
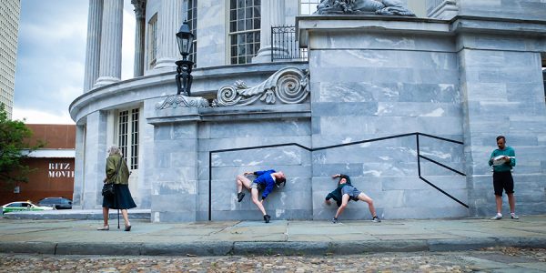
[[[102,23],[103,0],[89,0],[87,17],[86,73],[84,92],[93,88],[98,78],[100,60],[100,32]]]

